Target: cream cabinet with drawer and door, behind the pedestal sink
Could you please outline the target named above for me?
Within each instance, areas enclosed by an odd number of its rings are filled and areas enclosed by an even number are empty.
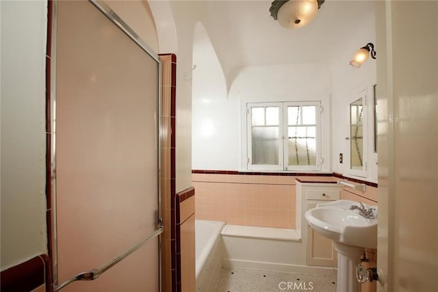
[[[341,198],[342,186],[335,183],[298,183],[297,197],[302,210],[301,235],[306,242],[307,265],[337,267],[337,253],[333,241],[316,233],[308,224],[304,213],[317,204]]]

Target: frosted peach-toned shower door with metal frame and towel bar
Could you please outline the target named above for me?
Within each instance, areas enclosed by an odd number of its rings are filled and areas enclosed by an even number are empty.
[[[52,24],[55,291],[159,291],[159,59],[101,2]]]

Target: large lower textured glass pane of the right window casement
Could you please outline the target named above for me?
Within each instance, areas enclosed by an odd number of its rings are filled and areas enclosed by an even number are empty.
[[[316,127],[288,127],[288,165],[316,165]]]

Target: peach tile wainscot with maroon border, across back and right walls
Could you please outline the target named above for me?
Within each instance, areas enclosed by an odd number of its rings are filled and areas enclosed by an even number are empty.
[[[330,176],[329,178],[327,176]],[[377,204],[377,184],[347,178],[339,173],[264,173],[222,170],[192,170],[192,185],[196,189],[196,219],[218,220],[233,225],[271,228],[295,228],[296,178],[308,183],[347,179],[364,183],[366,191],[344,187],[342,199]],[[376,250],[365,250],[369,262],[376,267]],[[375,292],[376,282],[362,285],[362,291]]]

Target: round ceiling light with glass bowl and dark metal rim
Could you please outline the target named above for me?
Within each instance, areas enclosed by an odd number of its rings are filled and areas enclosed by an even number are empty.
[[[274,0],[271,3],[271,16],[282,27],[295,29],[310,23],[325,0]]]

